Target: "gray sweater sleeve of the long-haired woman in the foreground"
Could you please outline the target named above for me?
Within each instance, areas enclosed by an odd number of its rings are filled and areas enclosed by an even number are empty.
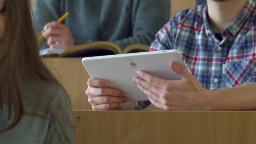
[[[66,92],[62,88],[59,88],[51,100],[54,110],[58,114],[58,118],[61,120],[65,129],[68,141],[64,137],[60,124],[56,120],[56,117],[50,112],[50,120],[48,124],[48,131],[46,134],[44,144],[74,144],[74,128],[72,121],[72,112],[70,108],[70,102]]]

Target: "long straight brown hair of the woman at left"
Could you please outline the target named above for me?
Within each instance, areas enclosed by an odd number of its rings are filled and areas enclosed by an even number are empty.
[[[0,109],[1,111],[3,110],[3,96],[7,96],[8,120],[10,120],[12,114],[14,117],[10,125],[4,130],[0,130],[0,132],[14,128],[24,114],[40,116],[24,111],[21,84],[27,82],[30,90],[38,97],[36,99],[41,100],[40,102],[43,103],[38,107],[54,115],[64,137],[69,141],[63,119],[61,120],[60,115],[50,106],[50,102],[43,98],[40,90],[33,86],[33,84],[30,84],[32,81],[37,80],[59,84],[38,54],[38,44],[31,17],[30,0],[5,0],[5,6],[8,13],[10,40],[8,51],[0,70]],[[71,124],[69,119],[68,121]]]

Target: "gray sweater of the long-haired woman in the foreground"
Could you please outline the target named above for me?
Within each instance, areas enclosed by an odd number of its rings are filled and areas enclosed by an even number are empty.
[[[49,82],[36,83],[36,85],[42,90],[43,98],[50,101],[50,105],[57,110],[66,128],[70,144],[73,144],[74,130],[67,121],[69,118],[72,122],[72,113],[64,90],[60,86]],[[22,90],[24,92],[25,111],[41,114],[45,118],[24,115],[13,129],[0,132],[0,144],[67,144],[54,116],[50,112],[37,108],[42,102],[36,99],[28,87],[24,86]],[[3,113],[0,113],[0,129],[6,128],[9,124],[7,100],[3,100]]]

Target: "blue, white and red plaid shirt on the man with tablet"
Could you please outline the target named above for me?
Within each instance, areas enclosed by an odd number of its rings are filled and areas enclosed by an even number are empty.
[[[203,88],[218,90],[256,82],[256,3],[248,0],[218,40],[207,5],[183,10],[156,34],[150,51],[177,49]],[[149,101],[137,102],[136,110]]]

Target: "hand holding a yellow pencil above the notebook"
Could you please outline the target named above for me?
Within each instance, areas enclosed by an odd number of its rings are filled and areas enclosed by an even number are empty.
[[[74,45],[74,38],[68,26],[61,22],[68,16],[68,12],[59,18],[57,21],[49,22],[44,26],[41,36],[47,39],[47,44],[50,48],[66,49],[68,46]]]

